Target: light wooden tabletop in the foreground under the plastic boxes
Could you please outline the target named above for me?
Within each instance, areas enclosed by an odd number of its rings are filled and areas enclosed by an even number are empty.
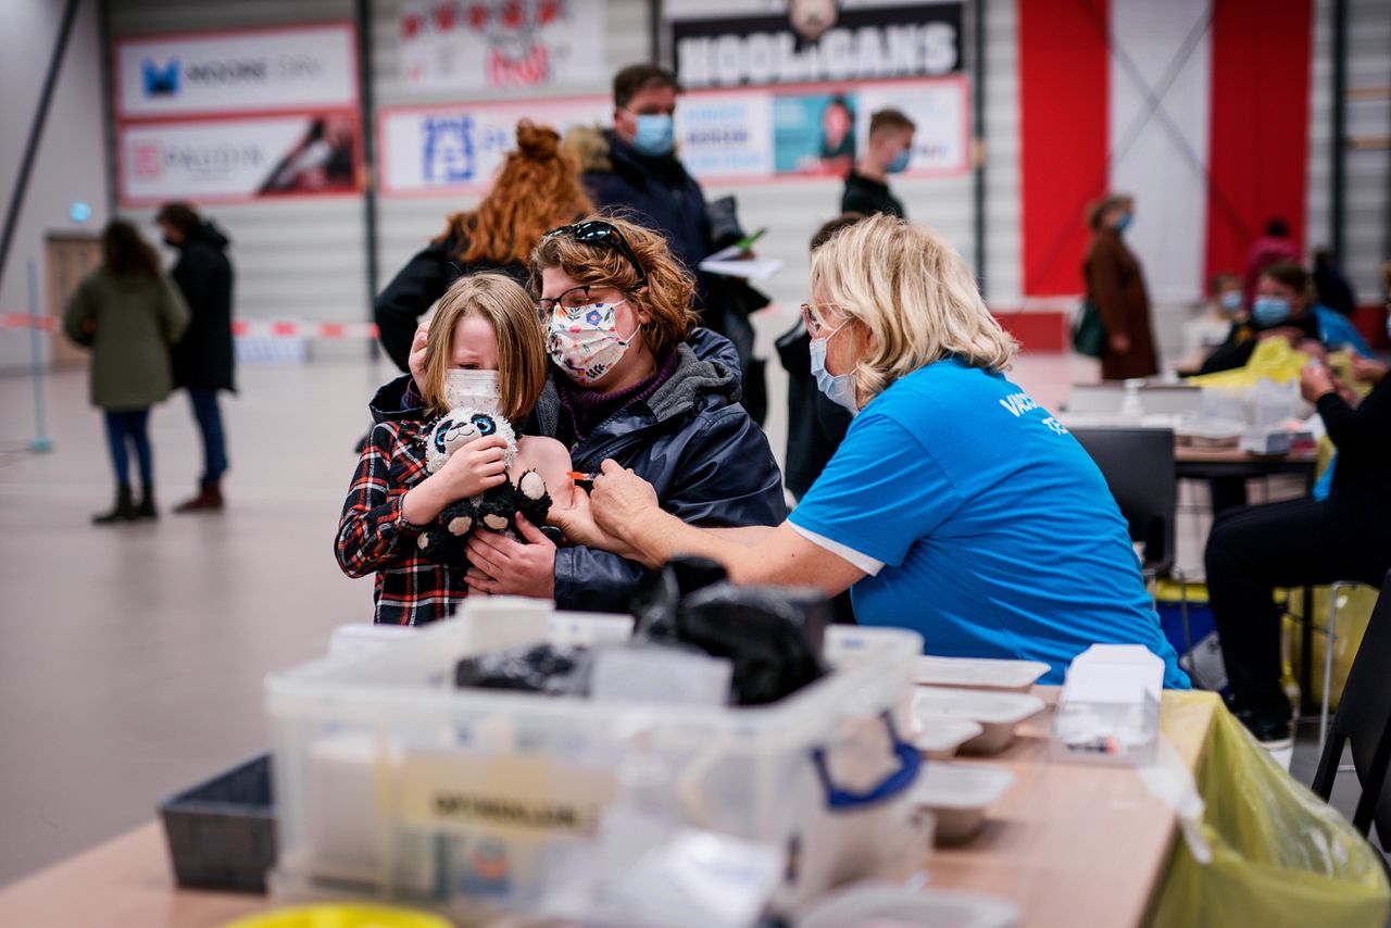
[[[1050,705],[1056,687],[1038,687]],[[1166,693],[1161,725],[1189,768],[1198,762],[1219,700]],[[1046,760],[1052,712],[1020,728],[990,758],[1015,783],[989,811],[985,831],[928,858],[928,883],[1011,899],[1022,925],[1139,925],[1153,904],[1177,833],[1173,810],[1134,769]],[[157,822],[0,889],[0,925],[213,928],[266,909],[241,893],[177,889]]]

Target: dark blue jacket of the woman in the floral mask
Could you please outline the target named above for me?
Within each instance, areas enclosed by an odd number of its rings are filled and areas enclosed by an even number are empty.
[[[787,518],[782,474],[768,437],[739,405],[739,356],[723,337],[697,328],[680,345],[676,373],[645,402],[615,413],[570,448],[576,470],[597,472],[605,458],[632,467],[657,488],[662,509],[700,526],[773,526]],[[554,435],[561,402],[549,378],[527,427]],[[419,417],[402,408],[408,377],[371,402],[377,422]],[[580,545],[555,552],[555,602],[562,609],[626,612],[643,566]]]

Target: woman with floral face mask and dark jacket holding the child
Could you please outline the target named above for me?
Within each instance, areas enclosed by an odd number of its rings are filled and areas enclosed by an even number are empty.
[[[541,238],[531,289],[547,327],[548,373],[520,431],[548,435],[574,470],[616,459],[701,526],[772,526],[786,515],[768,438],[739,405],[739,356],[696,326],[694,281],[666,241],[595,216]],[[419,335],[417,335],[419,338]],[[378,391],[378,422],[421,417],[401,378]],[[643,565],[583,544],[476,534],[469,587],[554,598],[562,609],[623,612]]]

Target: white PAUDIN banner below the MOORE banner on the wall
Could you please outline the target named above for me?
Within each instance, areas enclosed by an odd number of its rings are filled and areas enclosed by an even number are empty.
[[[121,205],[196,203],[357,191],[357,114],[125,124]]]

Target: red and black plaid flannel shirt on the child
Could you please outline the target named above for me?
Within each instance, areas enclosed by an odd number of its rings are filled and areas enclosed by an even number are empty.
[[[469,594],[465,570],[431,561],[416,547],[423,526],[401,512],[406,491],[428,476],[427,422],[378,423],[357,459],[338,522],[334,554],[351,577],[377,573],[378,625],[426,625],[453,615]]]

